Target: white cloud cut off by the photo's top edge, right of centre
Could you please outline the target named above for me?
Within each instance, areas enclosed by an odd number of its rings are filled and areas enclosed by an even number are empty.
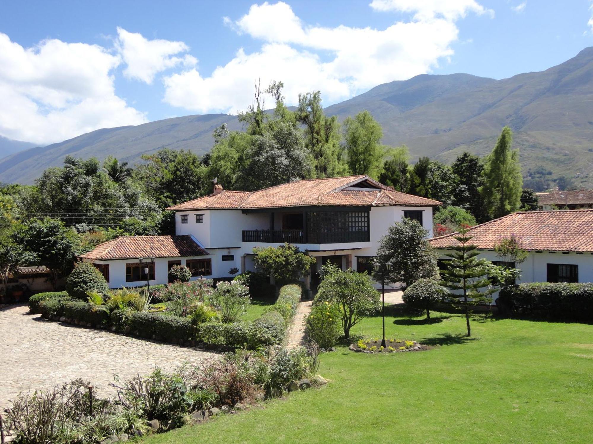
[[[468,12],[494,15],[492,9],[486,9],[476,0],[372,0],[369,5],[376,11],[398,11],[414,14],[415,20],[430,20],[442,17],[458,20]]]

